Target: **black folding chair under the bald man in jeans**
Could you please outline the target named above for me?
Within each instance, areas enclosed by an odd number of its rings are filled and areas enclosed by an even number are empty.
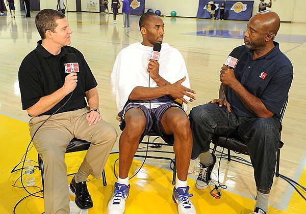
[[[288,97],[281,110],[281,120],[279,121],[279,131],[278,131],[279,147],[278,147],[277,154],[276,154],[276,172],[275,172],[276,177],[279,176],[279,158],[281,156],[281,148],[284,145],[283,141],[281,141],[281,133],[283,129],[282,121],[284,118],[287,104],[288,104]],[[217,146],[220,146],[220,147],[227,149],[227,161],[231,161],[231,150],[237,153],[249,156],[247,145],[240,139],[239,136],[230,136],[228,137],[227,141],[226,142],[225,141],[226,141],[226,136],[213,135],[213,138],[212,138],[212,143],[214,144],[213,154],[215,154]]]

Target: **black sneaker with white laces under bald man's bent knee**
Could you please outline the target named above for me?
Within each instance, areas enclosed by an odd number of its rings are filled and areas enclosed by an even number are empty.
[[[213,156],[213,163],[209,166],[204,166],[200,162],[200,169],[199,169],[199,175],[195,181],[195,187],[199,190],[205,190],[208,188],[209,181],[211,180],[211,173],[213,171],[213,168],[216,163],[216,156],[212,154]]]

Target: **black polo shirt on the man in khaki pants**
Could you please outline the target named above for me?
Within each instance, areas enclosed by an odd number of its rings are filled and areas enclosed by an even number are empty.
[[[64,63],[68,53],[75,53],[79,63],[80,72],[78,84],[73,91],[69,102],[57,113],[77,110],[87,106],[85,92],[96,87],[97,82],[91,73],[83,54],[70,46],[64,46],[58,55],[49,53],[43,46],[42,41],[37,42],[37,47],[23,59],[19,68],[19,87],[21,92],[22,109],[26,110],[39,101],[41,97],[50,95],[64,85],[67,74]],[[59,109],[70,97],[67,95],[52,109],[41,115],[49,115]]]

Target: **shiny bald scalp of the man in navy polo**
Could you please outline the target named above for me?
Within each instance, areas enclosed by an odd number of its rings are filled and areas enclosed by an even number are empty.
[[[277,34],[279,26],[281,25],[281,19],[279,19],[277,13],[269,10],[253,15],[250,21],[257,25],[263,32],[274,35]]]

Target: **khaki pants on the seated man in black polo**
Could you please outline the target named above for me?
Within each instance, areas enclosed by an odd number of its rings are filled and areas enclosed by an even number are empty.
[[[104,120],[88,125],[88,108],[53,115],[36,133],[33,144],[44,162],[44,207],[46,214],[69,213],[69,189],[66,148],[72,138],[91,142],[80,169],[100,178],[117,133]],[[30,134],[34,135],[48,115],[30,120]]]

